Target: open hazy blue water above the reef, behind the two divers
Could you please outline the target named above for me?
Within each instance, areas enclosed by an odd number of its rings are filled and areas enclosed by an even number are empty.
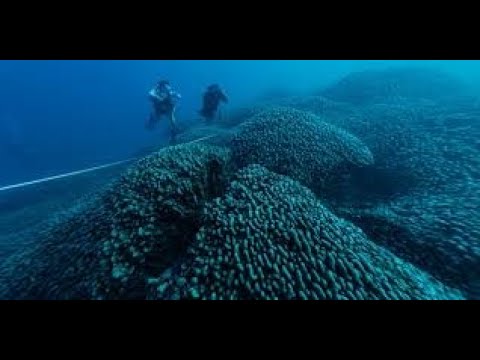
[[[0,185],[121,160],[164,141],[166,123],[144,128],[146,93],[160,78],[183,95],[181,121],[196,117],[212,82],[234,107],[273,88],[303,93],[394,65],[434,66],[480,83],[476,61],[0,61]]]

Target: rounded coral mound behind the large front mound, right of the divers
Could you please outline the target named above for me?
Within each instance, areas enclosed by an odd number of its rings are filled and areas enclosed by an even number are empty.
[[[239,167],[259,164],[314,190],[325,188],[343,171],[374,163],[355,136],[287,107],[260,112],[243,123],[231,147]]]

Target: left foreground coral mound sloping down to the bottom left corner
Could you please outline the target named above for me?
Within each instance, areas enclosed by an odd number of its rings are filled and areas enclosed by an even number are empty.
[[[201,144],[143,158],[3,262],[1,296],[145,298],[146,279],[171,265],[194,236],[203,202],[222,189],[228,158]]]

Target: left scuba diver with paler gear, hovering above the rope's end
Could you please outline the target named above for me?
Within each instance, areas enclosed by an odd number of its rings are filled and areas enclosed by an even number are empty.
[[[153,103],[153,111],[147,121],[147,129],[152,130],[163,116],[168,117],[170,120],[170,143],[174,143],[177,134],[175,110],[182,96],[172,89],[168,80],[161,80],[150,90],[148,97]]]

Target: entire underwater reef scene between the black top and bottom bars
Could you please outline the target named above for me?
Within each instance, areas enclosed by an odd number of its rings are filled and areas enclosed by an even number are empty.
[[[480,61],[0,60],[1,300],[478,300]]]

